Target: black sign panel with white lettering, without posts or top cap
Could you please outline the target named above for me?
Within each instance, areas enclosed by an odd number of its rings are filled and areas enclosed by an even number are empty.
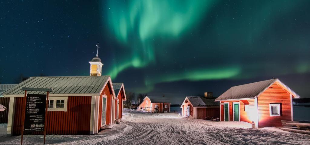
[[[44,131],[46,94],[27,94],[24,133]]]

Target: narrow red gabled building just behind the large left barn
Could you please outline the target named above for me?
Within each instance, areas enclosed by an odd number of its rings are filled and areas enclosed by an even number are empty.
[[[126,101],[126,93],[124,83],[113,83],[115,99],[115,119],[122,119],[123,115],[123,101]]]

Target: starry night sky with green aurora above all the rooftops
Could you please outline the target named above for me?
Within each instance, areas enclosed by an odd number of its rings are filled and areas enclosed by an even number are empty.
[[[219,96],[279,78],[310,97],[310,1],[1,1],[0,83],[103,75],[127,92]]]

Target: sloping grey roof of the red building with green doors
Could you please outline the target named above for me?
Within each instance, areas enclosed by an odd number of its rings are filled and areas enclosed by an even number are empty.
[[[219,100],[229,100],[229,99],[244,99],[244,98],[254,98],[268,86],[273,84],[277,79],[271,79],[266,81],[258,81],[250,84],[233,86],[226,92],[221,94],[215,101]]]

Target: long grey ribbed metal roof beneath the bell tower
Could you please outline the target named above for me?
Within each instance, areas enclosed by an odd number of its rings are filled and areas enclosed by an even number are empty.
[[[50,94],[98,94],[110,76],[74,77],[30,77],[3,92],[4,95],[24,94],[22,87],[51,88]],[[27,94],[45,94],[42,91],[28,91]]]

